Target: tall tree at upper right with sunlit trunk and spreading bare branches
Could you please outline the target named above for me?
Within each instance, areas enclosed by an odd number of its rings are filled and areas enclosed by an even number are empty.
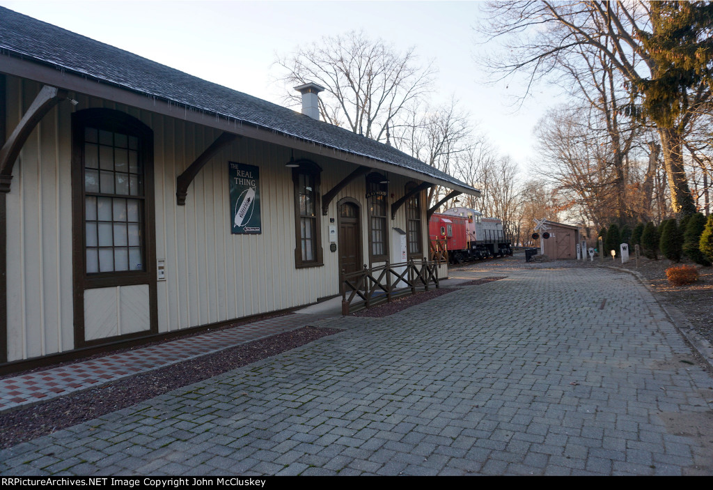
[[[529,91],[530,84],[538,78],[566,73],[563,66],[575,63],[573,60],[580,59],[583,53],[596,53],[605,59],[621,77],[622,87],[632,101],[639,97],[642,100],[640,105],[630,103],[622,111],[631,116],[648,116],[656,124],[674,212],[692,213],[682,135],[700,108],[710,101],[705,78],[709,68],[697,72],[707,62],[703,57],[697,65],[689,63],[684,70],[680,59],[692,60],[695,55],[668,55],[679,53],[677,49],[687,42],[697,44],[696,36],[706,46],[711,28],[699,22],[690,29],[693,35],[684,30],[679,31],[685,35],[667,35],[672,34],[671,25],[678,27],[680,19],[688,18],[686,12],[694,9],[697,6],[686,2],[493,3],[483,31],[490,39],[509,39],[506,53],[511,56],[499,53],[498,58],[491,58],[489,68],[503,76],[525,73]],[[666,45],[667,39],[673,39],[673,46]],[[670,90],[665,89],[666,83]]]

